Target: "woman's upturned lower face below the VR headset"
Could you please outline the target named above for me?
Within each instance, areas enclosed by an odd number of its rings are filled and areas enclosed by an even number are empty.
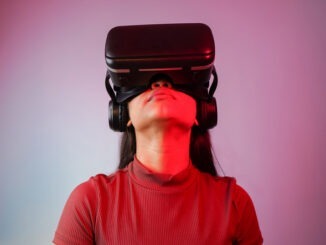
[[[135,130],[151,126],[179,126],[191,128],[196,119],[196,101],[174,90],[171,83],[158,80],[151,88],[132,99],[129,117]]]

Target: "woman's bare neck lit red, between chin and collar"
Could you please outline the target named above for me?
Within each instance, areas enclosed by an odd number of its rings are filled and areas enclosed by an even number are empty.
[[[136,157],[153,172],[175,175],[189,165],[190,134],[178,128],[136,132]]]

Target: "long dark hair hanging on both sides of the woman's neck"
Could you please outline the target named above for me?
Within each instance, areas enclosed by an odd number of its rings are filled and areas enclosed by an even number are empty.
[[[125,168],[133,159],[136,153],[136,135],[133,126],[127,127],[122,134],[120,146],[119,169]],[[212,144],[208,130],[193,126],[190,140],[190,158],[192,164],[201,172],[218,176],[214,165]]]

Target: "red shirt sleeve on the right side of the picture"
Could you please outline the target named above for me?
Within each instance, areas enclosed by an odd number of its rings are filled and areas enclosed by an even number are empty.
[[[255,207],[250,196],[238,185],[236,185],[234,194],[234,206],[237,217],[236,244],[263,244],[263,237],[259,228]]]

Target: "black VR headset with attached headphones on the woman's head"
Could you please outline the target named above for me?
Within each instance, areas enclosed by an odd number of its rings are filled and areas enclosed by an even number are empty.
[[[135,25],[111,29],[105,44],[108,66],[105,85],[111,97],[110,128],[125,131],[129,120],[127,102],[162,78],[171,82],[174,89],[196,99],[199,127],[213,128],[217,124],[213,94],[218,82],[214,58],[214,38],[205,24]]]

